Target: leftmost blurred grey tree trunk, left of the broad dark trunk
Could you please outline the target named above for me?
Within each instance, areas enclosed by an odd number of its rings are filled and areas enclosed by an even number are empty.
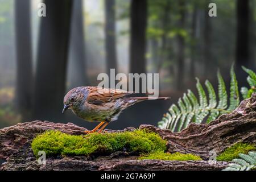
[[[30,0],[15,1],[16,102],[22,121],[31,119],[32,46]]]

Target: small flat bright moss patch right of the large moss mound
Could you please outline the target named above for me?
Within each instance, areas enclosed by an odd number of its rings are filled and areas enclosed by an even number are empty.
[[[159,160],[202,160],[200,156],[193,154],[181,154],[175,152],[174,154],[164,153],[163,151],[151,152],[148,155],[139,156],[138,159],[159,159]]]

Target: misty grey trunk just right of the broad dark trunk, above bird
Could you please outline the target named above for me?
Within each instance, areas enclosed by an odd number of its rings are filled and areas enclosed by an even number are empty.
[[[88,85],[82,0],[73,1],[69,46],[69,88]]]

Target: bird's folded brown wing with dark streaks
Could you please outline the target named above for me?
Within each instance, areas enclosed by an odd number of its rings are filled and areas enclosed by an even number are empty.
[[[134,93],[120,89],[102,88],[100,86],[88,86],[87,89],[89,90],[87,102],[95,105],[101,105]]]

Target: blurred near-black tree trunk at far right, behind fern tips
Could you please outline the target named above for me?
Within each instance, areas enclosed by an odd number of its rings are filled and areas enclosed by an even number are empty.
[[[241,66],[249,65],[249,0],[237,0],[236,72],[240,86],[246,84],[246,73]]]

